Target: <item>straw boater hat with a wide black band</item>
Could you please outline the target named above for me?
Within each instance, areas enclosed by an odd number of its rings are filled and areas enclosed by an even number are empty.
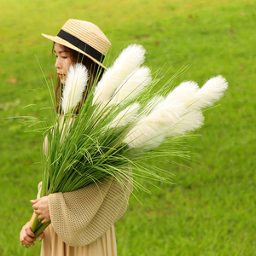
[[[104,67],[102,61],[111,47],[111,43],[100,28],[84,20],[67,20],[57,36],[53,37],[45,34],[42,34],[42,36],[55,43],[77,50],[102,67]]]

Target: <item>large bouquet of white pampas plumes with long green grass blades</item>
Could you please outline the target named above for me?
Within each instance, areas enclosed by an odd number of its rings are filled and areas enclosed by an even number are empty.
[[[108,176],[119,183],[125,177],[139,189],[145,188],[138,178],[172,182],[171,174],[148,159],[183,155],[175,147],[177,137],[203,125],[202,109],[217,102],[228,84],[217,76],[201,88],[188,81],[172,91],[169,83],[156,91],[159,80],[142,66],[144,55],[137,44],[123,50],[92,86],[79,113],[88,73],[81,64],[69,69],[62,113],[45,129],[41,196],[80,189]],[[46,226],[36,217],[32,231],[38,236]]]

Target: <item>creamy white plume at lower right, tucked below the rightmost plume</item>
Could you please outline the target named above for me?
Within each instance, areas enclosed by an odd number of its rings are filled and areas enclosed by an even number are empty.
[[[168,128],[167,136],[176,137],[185,135],[189,131],[195,131],[203,125],[204,116],[201,111],[192,111],[183,115],[177,121],[176,124],[172,125],[171,130]]]

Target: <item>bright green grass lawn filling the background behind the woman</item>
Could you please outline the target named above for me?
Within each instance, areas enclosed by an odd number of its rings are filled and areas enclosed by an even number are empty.
[[[3,2],[3,1],[2,1]],[[254,0],[9,0],[0,10],[0,255],[39,255],[20,246],[21,226],[41,179],[37,134],[22,118],[38,116],[47,103],[43,75],[55,77],[51,44],[68,18],[96,23],[112,41],[110,63],[133,43],[148,51],[153,72],[166,79],[191,65],[174,84],[202,85],[222,74],[230,88],[188,148],[194,161],[165,166],[173,186],[136,193],[115,225],[119,255],[256,255],[255,21]],[[23,108],[34,104],[30,108]],[[180,161],[183,164],[183,161]]]

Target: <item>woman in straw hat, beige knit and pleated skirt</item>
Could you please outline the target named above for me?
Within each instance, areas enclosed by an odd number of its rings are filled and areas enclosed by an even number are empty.
[[[84,92],[86,98],[96,77],[101,78],[106,68],[102,61],[111,44],[96,25],[82,20],[67,20],[56,37],[43,36],[54,42],[55,68],[60,79],[55,90],[56,110],[59,112],[69,67],[78,61],[89,71],[89,86]],[[73,192],[33,200],[32,208],[38,219],[42,223],[51,221],[38,237],[39,241],[44,238],[41,255],[116,255],[113,224],[124,214],[130,194],[129,182],[124,189],[113,178],[108,178]],[[33,246],[35,241],[31,224],[32,220],[20,231],[20,242],[27,247]]]

